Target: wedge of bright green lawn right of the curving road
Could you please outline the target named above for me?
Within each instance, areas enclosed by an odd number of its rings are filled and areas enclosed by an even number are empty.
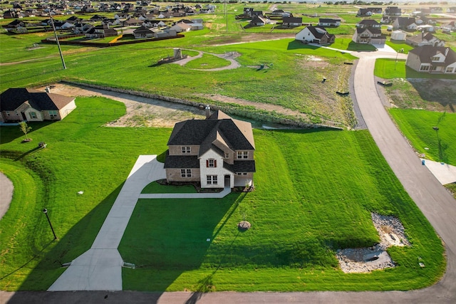
[[[455,113],[390,109],[390,114],[415,150],[427,159],[456,166]]]

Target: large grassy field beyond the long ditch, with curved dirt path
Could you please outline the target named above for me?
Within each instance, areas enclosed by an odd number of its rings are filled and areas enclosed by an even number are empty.
[[[17,65],[4,65],[0,88],[5,90],[66,79],[158,93],[201,103],[219,103],[208,100],[207,97],[203,98],[202,95],[222,95],[254,103],[281,105],[306,113],[309,122],[331,120],[346,126],[351,125],[351,121],[346,118],[350,113],[344,110],[336,90],[348,90],[348,83],[341,85],[340,75],[345,74],[347,68],[343,62],[353,61],[353,56],[304,46],[294,39],[193,47],[198,41],[204,45],[204,39],[207,39],[207,31],[200,32],[193,33],[195,37],[191,39],[186,37],[83,53],[66,53],[66,70],[61,68],[58,53],[52,58],[21,65],[20,70]],[[10,36],[0,36],[0,40],[5,43],[11,43],[11,39]],[[160,58],[172,54],[171,48],[177,46],[212,53],[236,51],[241,53],[237,60],[242,66],[210,73],[194,70],[229,64],[228,61],[211,56],[204,56],[188,66],[155,65]],[[11,47],[11,52],[20,53],[24,50]],[[5,53],[5,61],[10,60],[9,56]],[[309,56],[318,56],[321,61],[309,61]],[[126,62],[128,68],[125,68]],[[274,68],[259,71],[257,66],[262,63],[273,63]],[[106,68],[107,66],[110,68]],[[303,70],[306,70],[306,73],[301,73]],[[323,77],[328,80],[324,85],[321,84]]]

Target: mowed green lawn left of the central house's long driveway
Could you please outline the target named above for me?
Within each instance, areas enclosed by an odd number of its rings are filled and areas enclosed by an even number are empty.
[[[1,290],[46,290],[61,263],[90,248],[138,155],[166,150],[168,129],[101,127],[125,113],[122,103],[77,98],[76,105],[61,122],[30,122],[26,144],[18,126],[1,127],[0,168],[16,187],[0,221]],[[38,142],[46,149],[36,150]]]

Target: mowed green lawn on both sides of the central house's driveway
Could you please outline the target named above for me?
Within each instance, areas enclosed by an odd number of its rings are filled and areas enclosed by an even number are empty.
[[[61,263],[90,247],[138,155],[166,150],[169,129],[101,127],[125,111],[122,104],[104,98],[76,103],[78,110],[61,122],[31,123],[33,142],[21,144],[19,127],[0,130],[1,168],[18,189],[1,220],[2,290],[48,288],[63,272]],[[405,290],[442,275],[439,239],[368,132],[254,135],[254,192],[216,201],[138,202],[120,246],[125,261],[138,265],[124,270],[125,289]],[[33,143],[41,141],[48,147],[36,150]],[[333,255],[337,248],[378,241],[371,211],[398,216],[413,247],[389,250],[395,269],[343,274]],[[239,233],[242,219],[253,226]]]

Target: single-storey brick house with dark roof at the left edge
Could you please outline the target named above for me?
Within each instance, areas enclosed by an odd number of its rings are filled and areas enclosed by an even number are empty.
[[[0,121],[62,120],[76,108],[75,98],[27,88],[9,88],[0,95]]]

